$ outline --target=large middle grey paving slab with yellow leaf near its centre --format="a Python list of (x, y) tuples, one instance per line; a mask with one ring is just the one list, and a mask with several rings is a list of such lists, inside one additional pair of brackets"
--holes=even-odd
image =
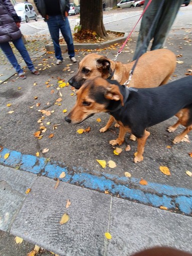
[[(111, 196), (39, 177), (11, 233), (65, 256), (104, 255)], [(71, 205), (66, 209), (67, 199)], [(64, 213), (67, 223), (59, 224)]]

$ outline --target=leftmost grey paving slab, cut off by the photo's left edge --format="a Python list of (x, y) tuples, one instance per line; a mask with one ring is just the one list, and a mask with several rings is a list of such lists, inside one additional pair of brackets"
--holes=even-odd
[(0, 229), (8, 231), (18, 214), (25, 192), (36, 180), (33, 173), (0, 165)]

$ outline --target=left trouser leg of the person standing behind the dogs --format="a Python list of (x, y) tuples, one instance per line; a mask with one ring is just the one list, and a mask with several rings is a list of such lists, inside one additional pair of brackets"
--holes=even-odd
[[(145, 0), (144, 8), (148, 4), (148, 2), (149, 2), (149, 0)], [(155, 16), (159, 9), (160, 3), (161, 3), (161, 1), (153, 0), (150, 3), (149, 7), (147, 8), (146, 12), (144, 13), (144, 15), (142, 17), (140, 30), (139, 30), (139, 36), (137, 39), (137, 45), (136, 45), (135, 53), (133, 56), (133, 60), (136, 60), (138, 58), (139, 53), (140, 53), (140, 55), (142, 55), (143, 53), (145, 53), (147, 51), (150, 40), (153, 38), (154, 32), (158, 25), (158, 20), (159, 20), (160, 14), (156, 18), (156, 22), (155, 22), (153, 28), (151, 29), (151, 32), (149, 35), (148, 35), (148, 32), (150, 30), (153, 20), (155, 19)], [(146, 39), (147, 35), (148, 35), (148, 38), (145, 41), (145, 44), (143, 45), (143, 42)], [(140, 51), (141, 47), (142, 47), (142, 51)]]

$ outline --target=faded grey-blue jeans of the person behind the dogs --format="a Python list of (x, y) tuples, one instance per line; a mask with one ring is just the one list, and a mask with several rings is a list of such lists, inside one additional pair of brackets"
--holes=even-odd
[[(149, 0), (145, 0), (144, 7), (146, 7)], [(156, 16), (156, 13), (159, 9), (159, 6), (161, 4), (161, 1), (159, 0), (153, 0), (146, 12), (144, 13), (142, 20), (141, 20), (141, 26), (139, 30), (139, 36), (137, 39), (137, 45), (136, 50), (134, 53), (133, 60), (138, 58), (139, 53), (143, 54), (147, 51), (147, 48), (149, 46), (150, 40), (153, 39), (151, 51), (163, 48), (164, 42), (166, 40), (166, 37), (169, 33), (169, 30), (176, 18), (176, 15), (178, 13), (178, 10), (182, 4), (182, 0), (165, 0), (164, 4), (162, 6), (162, 9), (160, 10), (160, 13), (157, 17), (157, 20), (151, 30), (151, 33), (149, 37), (147, 38), (147, 41), (145, 45), (143, 45), (144, 39), (146, 38), (148, 31), (150, 29), (150, 26)], [(142, 50), (140, 50), (142, 49)]]

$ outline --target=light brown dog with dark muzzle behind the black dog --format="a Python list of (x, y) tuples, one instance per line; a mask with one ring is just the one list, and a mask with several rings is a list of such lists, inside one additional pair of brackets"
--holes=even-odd
[[(114, 79), (120, 84), (125, 83), (129, 78), (129, 72), (135, 61), (122, 64), (108, 59), (105, 56), (91, 53), (84, 57), (79, 63), (76, 75), (70, 80), (69, 84), (79, 89), (85, 80), (97, 76), (105, 79)], [(176, 67), (176, 57), (174, 53), (167, 49), (159, 49), (144, 53), (138, 60), (134, 74), (128, 86), (136, 88), (157, 87), (166, 84), (170, 75)], [(114, 118), (110, 116), (107, 124), (100, 129), (104, 133), (113, 123)], [(134, 137), (132, 137), (133, 140)]]

